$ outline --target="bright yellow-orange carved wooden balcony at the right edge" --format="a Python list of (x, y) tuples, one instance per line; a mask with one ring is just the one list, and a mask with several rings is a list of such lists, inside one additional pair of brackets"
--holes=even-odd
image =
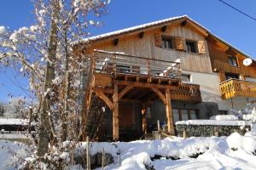
[(256, 82), (229, 79), (219, 84), (222, 99), (235, 96), (256, 97)]

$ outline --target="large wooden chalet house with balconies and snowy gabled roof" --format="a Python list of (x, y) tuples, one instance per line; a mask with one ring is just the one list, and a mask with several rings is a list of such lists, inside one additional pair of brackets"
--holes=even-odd
[[(160, 124), (206, 119), (241, 109), (256, 97), (256, 62), (188, 16), (84, 39), (76, 46), (90, 61), (83, 124), (93, 100), (108, 105), (100, 122), (113, 140), (150, 133)], [(99, 127), (96, 127), (99, 130)]]

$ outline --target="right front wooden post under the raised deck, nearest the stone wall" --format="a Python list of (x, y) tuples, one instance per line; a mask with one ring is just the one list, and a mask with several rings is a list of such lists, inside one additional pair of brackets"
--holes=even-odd
[(171, 104), (170, 89), (166, 89), (166, 118), (167, 118), (168, 133), (172, 133), (173, 120), (172, 120), (172, 104)]

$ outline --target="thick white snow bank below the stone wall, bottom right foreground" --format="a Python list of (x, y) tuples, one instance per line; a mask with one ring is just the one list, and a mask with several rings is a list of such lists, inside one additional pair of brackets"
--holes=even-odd
[(250, 134), (120, 142), (116, 150), (119, 159), (105, 169), (256, 169), (256, 138)]

